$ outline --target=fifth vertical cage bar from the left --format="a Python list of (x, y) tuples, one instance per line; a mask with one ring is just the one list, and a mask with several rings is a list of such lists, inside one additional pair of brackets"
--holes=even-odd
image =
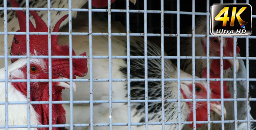
[(89, 0), (89, 60), (90, 60), (90, 125), (93, 130), (93, 77), (92, 77), (92, 0)]

